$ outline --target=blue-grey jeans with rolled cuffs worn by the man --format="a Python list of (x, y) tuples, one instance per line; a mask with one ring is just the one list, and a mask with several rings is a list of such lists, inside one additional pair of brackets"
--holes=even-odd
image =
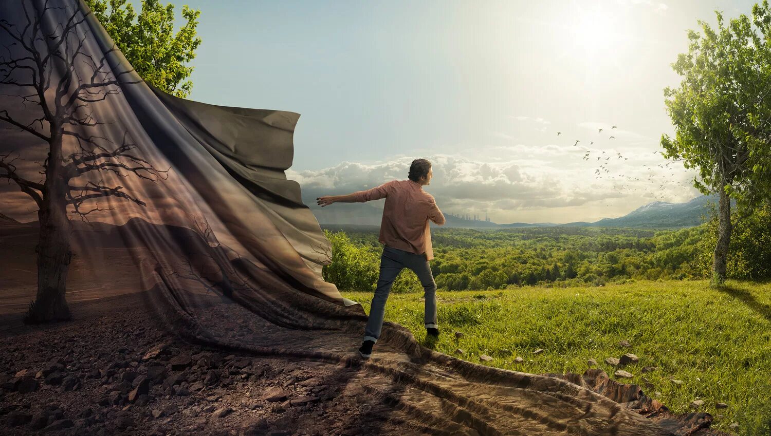
[(383, 326), (383, 316), (385, 315), (385, 300), (388, 300), (393, 280), (396, 280), (396, 276), (399, 275), (403, 268), (409, 268), (416, 273), (420, 284), (423, 285), (424, 297), (426, 297), (426, 310), (423, 320), (425, 321), (426, 328), (437, 328), (436, 283), (433, 280), (433, 274), (429, 267), (429, 261), (426, 260), (426, 255), (385, 246), (380, 257), (380, 277), (378, 279), (378, 286), (375, 289), (375, 297), (372, 298), (372, 306), (369, 308), (369, 319), (364, 330), (364, 340), (378, 341), (380, 330)]

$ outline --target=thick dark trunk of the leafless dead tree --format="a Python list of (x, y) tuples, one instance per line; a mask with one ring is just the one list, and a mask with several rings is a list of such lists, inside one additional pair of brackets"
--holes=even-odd
[(62, 138), (52, 139), (52, 153), (46, 172), (45, 196), (38, 210), (40, 237), (38, 253), (38, 293), (24, 319), (26, 324), (69, 320), (66, 279), (72, 251), (69, 244), (70, 223), (66, 213), (66, 182), (62, 179)]

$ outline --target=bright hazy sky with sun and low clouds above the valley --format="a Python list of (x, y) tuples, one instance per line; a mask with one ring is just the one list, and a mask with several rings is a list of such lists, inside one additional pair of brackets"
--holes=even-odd
[(755, 2), (186, 3), (203, 40), (189, 98), (300, 113), (287, 176), (309, 206), (425, 158), (444, 212), (568, 223), (701, 195), (655, 153), (674, 134), (663, 89), (697, 20)]

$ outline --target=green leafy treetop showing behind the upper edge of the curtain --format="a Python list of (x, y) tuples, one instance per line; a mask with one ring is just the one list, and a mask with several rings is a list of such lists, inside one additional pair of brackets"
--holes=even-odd
[(126, 59), (146, 82), (177, 97), (190, 94), (193, 82), (185, 81), (200, 45), (196, 26), (200, 11), (182, 7), (185, 24), (174, 34), (174, 6), (142, 0), (136, 15), (127, 0), (86, 0)]

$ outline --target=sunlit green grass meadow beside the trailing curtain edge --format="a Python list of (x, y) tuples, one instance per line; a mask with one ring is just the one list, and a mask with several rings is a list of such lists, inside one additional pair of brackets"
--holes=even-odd
[[(343, 295), (369, 313), (372, 293)], [(392, 293), (385, 310), (385, 320), (421, 341), (422, 297)], [(443, 334), (435, 349), (443, 353), (461, 348), (468, 361), (534, 374), (582, 374), (593, 358), (611, 377), (615, 368), (604, 359), (633, 353), (640, 361), (624, 367), (635, 375), (626, 382), (640, 384), (672, 411), (689, 412), (690, 402), (701, 399), (701, 411), (717, 417), (713, 428), (771, 434), (771, 282), (729, 280), (722, 289), (707, 280), (523, 287), (439, 292), (437, 300)], [(455, 331), (464, 336), (456, 341)], [(620, 347), (621, 340), (632, 347)], [(546, 351), (533, 354), (537, 348)], [(480, 354), (493, 361), (480, 361)], [(524, 362), (514, 362), (517, 356)], [(658, 371), (641, 374), (645, 366)], [(716, 402), (729, 407), (719, 410)], [(734, 422), (739, 428), (729, 428)]]

